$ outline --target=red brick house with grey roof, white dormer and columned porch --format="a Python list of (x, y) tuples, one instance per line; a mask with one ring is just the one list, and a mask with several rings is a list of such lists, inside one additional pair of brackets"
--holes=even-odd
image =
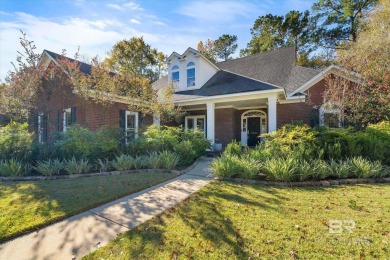
[[(58, 56), (49, 51), (44, 54), (51, 61)], [(294, 47), (216, 64), (188, 48), (183, 54), (172, 53), (166, 63), (168, 75), (153, 87), (159, 91), (173, 83), (174, 103), (186, 112), (176, 124), (204, 131), (209, 140), (224, 147), (232, 140), (254, 146), (260, 134), (298, 120), (309, 125), (339, 125), (339, 111), (326, 109), (323, 102), (325, 77), (339, 69), (298, 66)], [(80, 69), (91, 71), (90, 65), (81, 62)], [(66, 131), (72, 123), (90, 129), (114, 125), (133, 133), (141, 126), (159, 123), (151, 115), (127, 111), (120, 101), (103, 106), (81, 100), (71, 87), (57, 91), (62, 92), (54, 91), (43, 102), (49, 107), (47, 114), (38, 114), (40, 140), (46, 140), (50, 132)]]

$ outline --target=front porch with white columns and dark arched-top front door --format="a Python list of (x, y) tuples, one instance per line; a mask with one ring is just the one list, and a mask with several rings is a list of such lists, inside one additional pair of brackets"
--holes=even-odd
[(243, 146), (255, 146), (259, 135), (277, 128), (277, 96), (250, 100), (205, 102), (182, 106), (186, 111), (186, 129), (205, 131), (207, 139), (222, 143), (223, 149), (233, 140)]

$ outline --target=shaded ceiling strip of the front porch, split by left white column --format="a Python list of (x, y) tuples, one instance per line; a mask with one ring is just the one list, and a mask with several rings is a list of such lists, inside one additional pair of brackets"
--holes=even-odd
[[(240, 100), (240, 101), (228, 101), (215, 103), (215, 108), (235, 108), (245, 109), (251, 107), (267, 107), (267, 98), (252, 99), (252, 100)], [(183, 110), (206, 110), (206, 104), (198, 104), (192, 106), (182, 106)]]

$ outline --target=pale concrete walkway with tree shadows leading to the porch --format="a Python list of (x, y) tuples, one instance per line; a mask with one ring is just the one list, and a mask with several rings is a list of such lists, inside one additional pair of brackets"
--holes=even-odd
[(80, 259), (171, 208), (212, 180), (205, 158), (182, 176), (0, 245), (0, 259)]

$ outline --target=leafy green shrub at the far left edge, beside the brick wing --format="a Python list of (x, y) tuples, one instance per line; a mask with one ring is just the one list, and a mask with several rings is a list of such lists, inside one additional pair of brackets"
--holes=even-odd
[(0, 160), (30, 160), (34, 135), (27, 123), (11, 122), (0, 127)]

